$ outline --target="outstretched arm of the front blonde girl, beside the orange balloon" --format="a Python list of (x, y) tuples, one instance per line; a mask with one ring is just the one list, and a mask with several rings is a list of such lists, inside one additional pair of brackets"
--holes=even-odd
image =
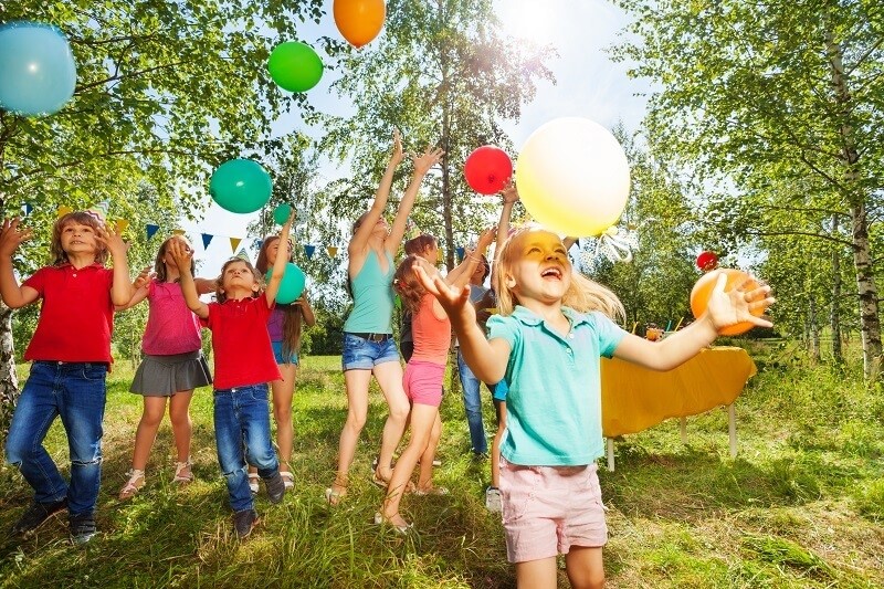
[(652, 370), (672, 370), (715, 341), (718, 330), (724, 327), (743, 322), (771, 327), (774, 324), (770, 320), (751, 314), (751, 309), (767, 309), (775, 303), (770, 296), (770, 286), (764, 285), (748, 291), (753, 282), (751, 278), (747, 280), (725, 293), (727, 275), (723, 272), (709, 297), (706, 313), (697, 320), (660, 343), (630, 334), (617, 346), (614, 356)]

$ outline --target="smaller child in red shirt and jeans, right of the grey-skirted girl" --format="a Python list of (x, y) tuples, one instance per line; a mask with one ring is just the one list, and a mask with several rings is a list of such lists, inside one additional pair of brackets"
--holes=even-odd
[[(283, 225), (281, 243), (287, 246), (292, 218)], [(261, 275), (242, 257), (228, 260), (218, 277), (217, 303), (202, 303), (190, 272), (193, 252), (181, 242), (169, 245), (181, 272), (181, 290), (190, 309), (212, 330), (214, 351), (214, 432), (218, 463), (227, 478), (233, 526), (240, 539), (259, 523), (249, 488), (246, 461), (257, 467), (271, 503), (280, 503), (285, 483), (270, 440), (267, 382), (280, 379), (267, 333), (280, 282), (288, 257), (277, 255), (266, 288)]]

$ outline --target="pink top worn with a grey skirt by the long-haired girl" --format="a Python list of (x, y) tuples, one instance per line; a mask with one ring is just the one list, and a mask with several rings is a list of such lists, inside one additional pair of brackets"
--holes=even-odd
[(199, 319), (188, 308), (178, 283), (151, 281), (147, 302), (150, 311), (141, 351), (150, 356), (171, 356), (202, 347)]

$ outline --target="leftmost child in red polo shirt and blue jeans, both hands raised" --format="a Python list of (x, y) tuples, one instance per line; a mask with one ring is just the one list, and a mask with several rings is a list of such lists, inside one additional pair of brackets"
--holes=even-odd
[[(114, 306), (125, 305), (129, 282), (126, 244), (92, 212), (70, 212), (55, 221), (52, 264), (19, 285), (12, 255), (31, 236), (19, 220), (0, 232), (0, 295), (11, 308), (41, 298), (40, 318), (24, 359), (31, 374), (19, 397), (7, 435), (7, 461), (34, 490), (34, 501), (13, 526), (27, 536), (50, 516), (67, 509), (71, 537), (83, 544), (96, 534), (95, 504), (102, 480), (102, 420), (105, 379), (113, 361)], [(104, 267), (107, 253), (113, 270)], [(43, 448), (61, 417), (67, 432), (71, 483)]]

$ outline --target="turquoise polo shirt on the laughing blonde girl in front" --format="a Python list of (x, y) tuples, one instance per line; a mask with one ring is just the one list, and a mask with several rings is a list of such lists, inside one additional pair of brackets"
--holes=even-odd
[(566, 336), (523, 306), (488, 319), (490, 339), (512, 348), (501, 454), (513, 464), (576, 466), (604, 455), (600, 362), (627, 332), (598, 312), (562, 313), (571, 324)]

